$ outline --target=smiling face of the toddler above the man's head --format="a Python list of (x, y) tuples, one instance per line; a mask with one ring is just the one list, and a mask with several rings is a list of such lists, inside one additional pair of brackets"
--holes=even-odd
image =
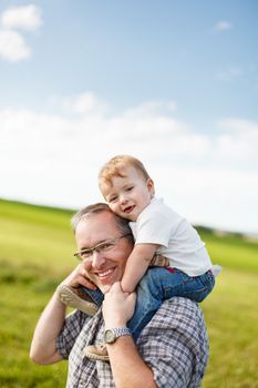
[(113, 176), (111, 185), (100, 181), (101, 192), (110, 208), (117, 215), (136, 221), (140, 213), (149, 204), (154, 194), (154, 183), (147, 181), (134, 167), (124, 167), (122, 176)]

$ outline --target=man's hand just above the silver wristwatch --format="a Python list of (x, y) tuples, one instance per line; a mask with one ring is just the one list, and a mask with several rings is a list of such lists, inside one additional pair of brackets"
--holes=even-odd
[(112, 285), (103, 302), (103, 317), (106, 328), (123, 327), (134, 314), (136, 294), (123, 293), (121, 283)]

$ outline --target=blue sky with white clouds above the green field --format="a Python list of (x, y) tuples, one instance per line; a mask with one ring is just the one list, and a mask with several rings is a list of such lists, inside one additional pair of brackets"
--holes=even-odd
[(138, 157), (195, 225), (258, 233), (256, 0), (0, 1), (0, 197), (78, 210)]

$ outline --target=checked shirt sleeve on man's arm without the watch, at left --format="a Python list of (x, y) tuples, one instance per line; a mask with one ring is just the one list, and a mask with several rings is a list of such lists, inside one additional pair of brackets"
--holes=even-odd
[(82, 330), (82, 327), (87, 316), (80, 310), (74, 310), (66, 316), (62, 330), (56, 338), (56, 350), (64, 358), (68, 359), (70, 351)]

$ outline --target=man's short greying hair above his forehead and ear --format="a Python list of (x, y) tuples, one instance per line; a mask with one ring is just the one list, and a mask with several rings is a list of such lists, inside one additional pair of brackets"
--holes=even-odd
[(115, 213), (113, 213), (110, 207), (107, 206), (107, 204), (105, 203), (95, 203), (93, 205), (89, 205), (86, 207), (81, 208), (78, 213), (75, 213), (71, 219), (71, 225), (73, 228), (73, 232), (76, 232), (76, 227), (80, 223), (81, 219), (83, 218), (87, 218), (91, 215), (94, 214), (100, 214), (100, 213), (111, 213), (116, 222), (117, 228), (121, 232), (122, 235), (127, 235), (128, 239), (133, 241), (133, 235), (132, 235), (132, 231), (131, 227), (128, 225), (128, 221), (124, 219), (122, 217), (120, 217), (118, 215), (116, 215)]

